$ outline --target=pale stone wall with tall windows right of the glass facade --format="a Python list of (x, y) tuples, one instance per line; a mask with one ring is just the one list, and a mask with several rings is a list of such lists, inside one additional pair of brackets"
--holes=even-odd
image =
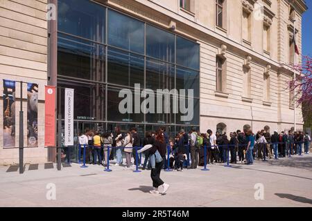
[[(298, 2), (301, 0), (298, 0)], [(271, 130), (289, 130), (293, 126), (294, 111), (290, 104), (288, 81), (293, 73), (289, 65), (289, 3), (285, 0), (258, 0), (272, 15), (270, 26), (270, 54), (263, 51), (263, 20), (258, 19), (258, 11), (252, 12), (252, 41), (246, 46), (242, 39), (241, 0), (227, 0), (226, 30), (215, 25), (215, 1), (196, 0), (191, 4), (191, 12), (180, 9), (179, 1), (136, 0), (132, 8), (125, 7), (125, 1), (112, 0), (108, 5), (124, 10), (168, 29), (171, 21), (176, 23), (175, 32), (196, 39), (200, 43), (200, 129), (216, 129), (223, 122), (228, 131), (242, 129), (244, 124), (252, 125), (254, 131), (263, 126)], [(253, 2), (253, 1), (250, 1)], [(271, 3), (270, 3), (271, 2)], [(192, 7), (193, 6), (193, 7)], [(296, 6), (297, 7), (297, 6)], [(299, 6), (298, 6), (299, 7)], [(134, 10), (135, 8), (135, 10)], [(235, 10), (234, 10), (235, 8)], [(231, 10), (232, 9), (232, 10)], [(301, 14), (296, 8), (297, 44), (301, 52)], [(146, 17), (154, 15), (157, 20)], [(227, 84), (228, 96), (216, 95), (216, 55), (221, 45), (227, 46)], [(252, 57), (251, 96), (252, 103), (244, 102), (243, 64), (247, 55)], [(297, 56), (299, 59), (300, 56)], [(263, 73), (270, 65), (270, 100), (263, 102)], [(286, 68), (283, 68), (286, 66)], [(297, 129), (302, 129), (302, 113), (297, 108)]]

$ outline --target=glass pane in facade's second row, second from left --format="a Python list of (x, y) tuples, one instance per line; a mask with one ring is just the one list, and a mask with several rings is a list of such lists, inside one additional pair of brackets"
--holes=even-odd
[(144, 57), (108, 48), (107, 81), (111, 84), (144, 86)]

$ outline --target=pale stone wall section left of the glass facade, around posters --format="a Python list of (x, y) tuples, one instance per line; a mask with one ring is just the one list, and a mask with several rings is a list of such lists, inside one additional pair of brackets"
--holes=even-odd
[[(39, 85), (38, 147), (24, 148), (24, 162), (46, 162), (44, 148), (44, 85), (47, 78), (47, 0), (0, 0), (0, 91), (3, 79)], [(16, 84), (16, 98), (20, 97), (20, 83)], [(27, 146), (27, 84), (23, 84), (24, 145)], [(16, 102), (16, 131), (19, 131), (19, 108)], [(0, 127), (3, 128), (3, 97), (0, 101)], [(0, 130), (0, 164), (18, 163), (17, 148), (3, 148)]]

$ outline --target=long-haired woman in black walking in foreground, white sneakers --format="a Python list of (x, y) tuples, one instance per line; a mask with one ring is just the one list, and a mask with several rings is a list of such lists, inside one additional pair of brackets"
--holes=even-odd
[[(160, 130), (158, 130), (155, 135), (155, 142), (153, 147), (150, 148), (150, 154), (155, 154), (156, 151), (159, 152), (163, 159), (166, 157), (166, 142), (164, 140), (164, 135)], [(162, 171), (163, 164), (164, 160), (162, 160), (162, 162), (156, 163), (155, 169), (150, 171), (150, 177), (153, 181), (153, 191), (150, 191), (152, 194), (159, 194), (159, 186), (161, 186), (163, 189), (162, 194), (165, 194), (166, 191), (168, 191), (169, 185), (164, 183), (164, 181), (162, 181), (160, 178), (160, 172)]]

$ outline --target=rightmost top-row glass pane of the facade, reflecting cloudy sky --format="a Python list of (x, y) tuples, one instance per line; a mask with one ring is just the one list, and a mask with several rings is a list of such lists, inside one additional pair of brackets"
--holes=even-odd
[(177, 64), (199, 70), (199, 44), (177, 37)]

